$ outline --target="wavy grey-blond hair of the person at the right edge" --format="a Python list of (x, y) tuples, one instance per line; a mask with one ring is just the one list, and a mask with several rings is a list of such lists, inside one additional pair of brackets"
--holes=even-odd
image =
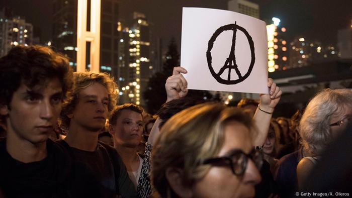
[(352, 91), (349, 89), (323, 89), (309, 102), (304, 111), (299, 134), (301, 145), (316, 156), (333, 140), (329, 123), (331, 116), (352, 108)]

